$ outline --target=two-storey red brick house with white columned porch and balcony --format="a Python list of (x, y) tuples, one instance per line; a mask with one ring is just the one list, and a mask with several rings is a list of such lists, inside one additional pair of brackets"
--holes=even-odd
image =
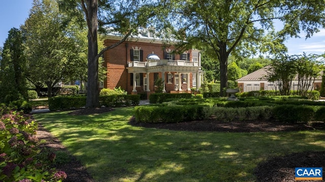
[[(120, 41), (120, 35), (107, 35), (105, 46)], [(107, 68), (107, 80), (104, 88), (121, 87), (128, 94), (154, 93), (154, 82), (163, 80), (164, 92), (190, 92), (190, 88), (199, 91), (203, 71), (201, 53), (190, 49), (174, 54), (173, 47), (164, 47), (163, 41), (149, 31), (129, 38), (119, 46), (104, 53), (104, 65)]]

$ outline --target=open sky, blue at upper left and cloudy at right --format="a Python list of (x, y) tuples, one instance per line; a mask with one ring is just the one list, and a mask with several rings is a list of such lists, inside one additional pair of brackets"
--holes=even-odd
[[(19, 28), (28, 18), (32, 0), (5, 0), (0, 6), (0, 46), (8, 38), (8, 31), (15, 27)], [(285, 45), (288, 54), (324, 54), (325, 53), (325, 29), (315, 33), (312, 38), (305, 40), (305, 34), (300, 34), (301, 39), (289, 38)]]

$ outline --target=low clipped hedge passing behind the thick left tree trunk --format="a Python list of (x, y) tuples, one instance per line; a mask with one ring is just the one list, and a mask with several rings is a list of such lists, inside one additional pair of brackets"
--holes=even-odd
[[(139, 105), (140, 95), (107, 95), (100, 96), (100, 105), (112, 106), (130, 106)], [(80, 108), (86, 105), (86, 96), (56, 96), (48, 100), (49, 110), (67, 110), (70, 108)]]

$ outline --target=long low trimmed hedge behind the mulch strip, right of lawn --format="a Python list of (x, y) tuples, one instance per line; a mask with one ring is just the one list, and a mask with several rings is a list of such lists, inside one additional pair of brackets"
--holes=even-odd
[[(282, 98), (283, 99), (283, 98)], [(285, 100), (288, 99), (288, 100)], [(270, 120), (308, 123), (325, 120), (325, 103), (285, 98), (278, 100), (225, 101), (221, 99), (177, 99), (136, 107), (138, 122), (185, 122), (213, 117), (220, 121)], [(272, 101), (277, 103), (272, 103)]]

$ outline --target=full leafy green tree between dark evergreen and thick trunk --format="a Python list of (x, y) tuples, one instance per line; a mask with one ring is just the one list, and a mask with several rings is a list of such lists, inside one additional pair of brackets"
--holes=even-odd
[(37, 90), (46, 84), (51, 97), (55, 84), (85, 72), (85, 38), (79, 36), (84, 29), (59, 12), (56, 0), (34, 0), (30, 12), (21, 27), (26, 37), (26, 77)]

